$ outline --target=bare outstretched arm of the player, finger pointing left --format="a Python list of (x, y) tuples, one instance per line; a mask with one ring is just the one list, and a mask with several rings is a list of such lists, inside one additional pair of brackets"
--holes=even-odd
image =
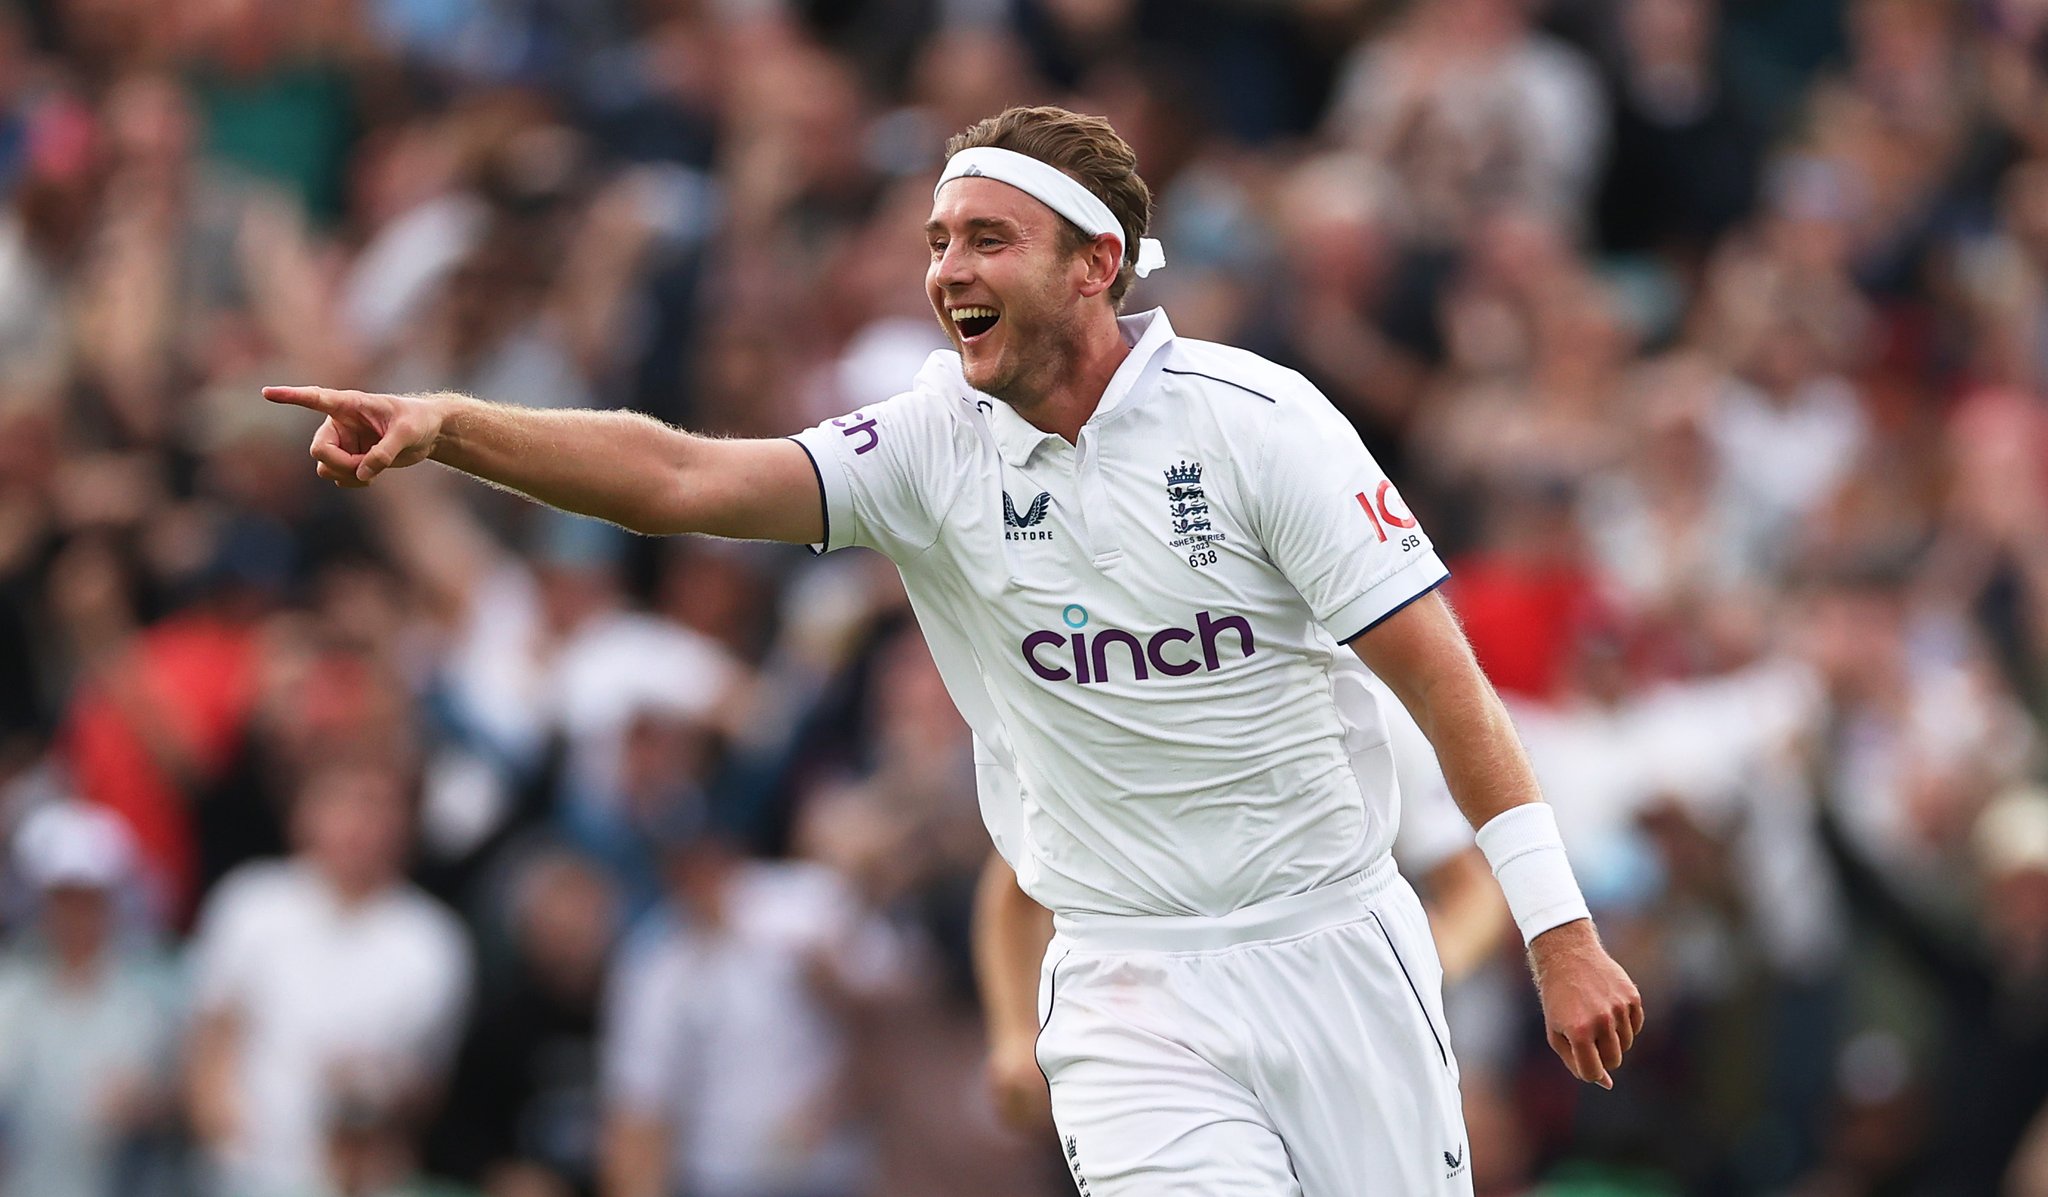
[(647, 535), (788, 543), (825, 535), (817, 473), (795, 441), (719, 441), (635, 412), (512, 408), (455, 394), (262, 394), (326, 416), (311, 455), (315, 473), (336, 486), (369, 486), (385, 469), (440, 461)]

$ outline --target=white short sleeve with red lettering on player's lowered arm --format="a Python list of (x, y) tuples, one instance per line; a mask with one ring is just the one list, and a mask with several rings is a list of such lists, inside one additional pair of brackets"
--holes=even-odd
[(1450, 570), (1350, 420), (1305, 391), (1272, 414), (1251, 508), (1274, 566), (1350, 644)]

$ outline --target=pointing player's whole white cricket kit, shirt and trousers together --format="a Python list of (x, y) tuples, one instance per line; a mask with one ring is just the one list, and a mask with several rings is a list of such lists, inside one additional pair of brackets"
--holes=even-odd
[(1079, 439), (913, 389), (797, 437), (903, 574), (981, 806), (1055, 914), (1038, 1060), (1090, 1197), (1468, 1193), (1442, 969), (1339, 648), (1446, 578), (1298, 373), (1118, 320)]

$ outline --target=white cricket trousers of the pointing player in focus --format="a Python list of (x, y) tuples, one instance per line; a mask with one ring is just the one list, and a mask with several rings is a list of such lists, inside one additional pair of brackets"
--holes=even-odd
[(1223, 918), (1057, 918), (1038, 1064), (1075, 1187), (1470, 1195), (1442, 990), (1391, 859)]

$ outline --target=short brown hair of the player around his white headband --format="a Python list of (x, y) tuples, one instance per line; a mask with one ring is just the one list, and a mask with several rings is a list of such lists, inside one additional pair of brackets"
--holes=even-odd
[[(1110, 283), (1110, 303), (1122, 307), (1124, 293), (1137, 279), (1139, 238), (1151, 228), (1151, 189), (1139, 178), (1139, 156), (1102, 117), (1083, 117), (1051, 105), (1036, 109), (1004, 109), (969, 125), (946, 141), (946, 158), (961, 150), (993, 146), (1057, 166), (1110, 205), (1110, 215), (1124, 230), (1124, 264)], [(1061, 219), (1071, 250), (1090, 244), (1073, 221)]]

